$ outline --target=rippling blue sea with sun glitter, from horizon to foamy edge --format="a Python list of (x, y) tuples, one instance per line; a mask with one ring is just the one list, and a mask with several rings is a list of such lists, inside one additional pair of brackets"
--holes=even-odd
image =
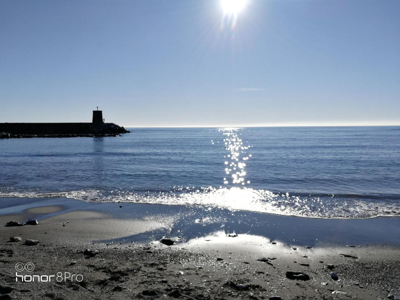
[(400, 127), (130, 130), (0, 140), (0, 196), (400, 216)]

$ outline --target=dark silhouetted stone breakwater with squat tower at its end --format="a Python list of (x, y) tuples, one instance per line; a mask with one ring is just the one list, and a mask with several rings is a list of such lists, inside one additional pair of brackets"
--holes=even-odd
[(0, 138), (72, 138), (120, 136), (124, 127), (105, 123), (102, 111), (94, 110), (91, 123), (0, 123)]

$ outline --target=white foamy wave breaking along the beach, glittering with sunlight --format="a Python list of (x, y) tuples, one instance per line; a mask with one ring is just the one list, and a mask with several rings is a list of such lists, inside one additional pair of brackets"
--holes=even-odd
[[(246, 187), (183, 188), (168, 192), (136, 192), (133, 190), (71, 190), (44, 192), (38, 190), (0, 190), (0, 197), (48, 198), (65, 197), (93, 202), (134, 202), (165, 205), (204, 205), (230, 210), (300, 216), (306, 218), (375, 218), (400, 216), (400, 201), (362, 195), (332, 194), (320, 196), (276, 194), (268, 190)], [(392, 197), (389, 197), (392, 198)]]

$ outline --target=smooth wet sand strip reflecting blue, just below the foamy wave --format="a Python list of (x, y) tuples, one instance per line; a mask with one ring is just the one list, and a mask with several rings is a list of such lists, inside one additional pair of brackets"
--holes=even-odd
[[(31, 210), (47, 206), (59, 206), (60, 209), (57, 212)], [(127, 224), (137, 220), (156, 224), (145, 232), (130, 232), (126, 236), (110, 235), (108, 239), (115, 242), (124, 239), (149, 242), (160, 240), (164, 236), (172, 238), (181, 236), (181, 241), (187, 241), (220, 232), (224, 234), (235, 232), (262, 236), (270, 241), (298, 247), (365, 244), (400, 246), (400, 236), (397, 234), (400, 231), (399, 217), (321, 219), (243, 210), (232, 211), (201, 205), (90, 202), (63, 197), (0, 199), (0, 222), (4, 224), (6, 221), (11, 221), (10, 215), (19, 215), (16, 216), (16, 221), (20, 223), (29, 219), (40, 221), (48, 218), (66, 222), (65, 219), (70, 218), (67, 214), (76, 211), (105, 214), (107, 219), (120, 220)], [(79, 220), (76, 219), (75, 222), (79, 223)]]

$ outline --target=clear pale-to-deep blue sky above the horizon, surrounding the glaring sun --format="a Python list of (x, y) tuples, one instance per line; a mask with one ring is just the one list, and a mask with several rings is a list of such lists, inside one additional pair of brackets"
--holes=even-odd
[(0, 122), (400, 124), (400, 1), (0, 3)]

